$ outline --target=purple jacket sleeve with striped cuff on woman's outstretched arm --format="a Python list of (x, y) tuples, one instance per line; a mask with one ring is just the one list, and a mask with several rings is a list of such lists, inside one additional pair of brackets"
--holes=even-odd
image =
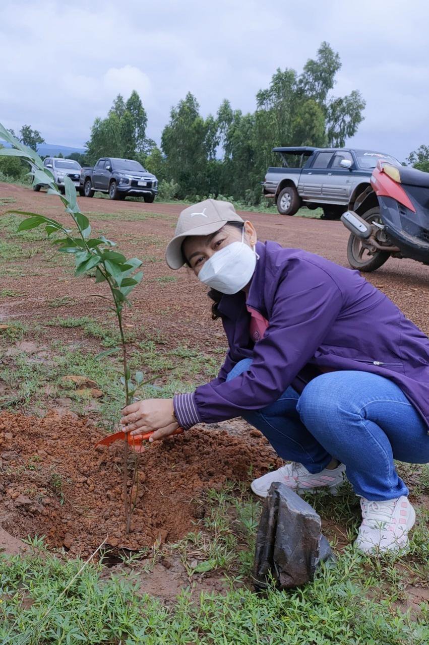
[(279, 280), (270, 325), (255, 344), (250, 370), (175, 397), (179, 423), (189, 428), (223, 421), (276, 401), (314, 356), (342, 306), (343, 295), (328, 273), (310, 261), (296, 263)]

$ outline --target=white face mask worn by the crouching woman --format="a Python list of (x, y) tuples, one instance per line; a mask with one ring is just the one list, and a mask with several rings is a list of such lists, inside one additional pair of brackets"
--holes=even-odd
[(254, 274), (259, 255), (244, 243), (244, 228), (241, 242), (228, 244), (206, 260), (198, 273), (202, 283), (221, 293), (238, 293)]

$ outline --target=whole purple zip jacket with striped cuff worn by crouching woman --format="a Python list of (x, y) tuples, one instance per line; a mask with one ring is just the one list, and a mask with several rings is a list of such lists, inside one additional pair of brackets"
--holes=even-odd
[[(292, 385), (301, 393), (324, 371), (361, 370), (394, 381), (429, 427), (429, 339), (360, 273), (306, 251), (257, 243), (248, 299), (224, 295), (219, 312), (229, 351), (216, 379), (174, 397), (185, 428), (259, 410)], [(246, 304), (269, 321), (250, 339)], [(248, 372), (226, 382), (235, 363)]]

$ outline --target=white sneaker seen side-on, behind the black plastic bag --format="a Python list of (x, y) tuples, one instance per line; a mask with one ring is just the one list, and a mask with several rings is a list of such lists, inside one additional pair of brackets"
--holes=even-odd
[(281, 482), (286, 484), (289, 488), (293, 488), (297, 493), (302, 493), (304, 490), (314, 492), (316, 488), (328, 486), (332, 493), (337, 491), (337, 488), (344, 481), (344, 471), (346, 467), (344, 464), (339, 464), (337, 468), (328, 470), (324, 468), (320, 473), (309, 473), (308, 470), (296, 461), (292, 464), (286, 464), (278, 470), (273, 470), (271, 473), (266, 473), (258, 479), (254, 479), (250, 488), (254, 491), (255, 495), (259, 497), (266, 497), (272, 482)]

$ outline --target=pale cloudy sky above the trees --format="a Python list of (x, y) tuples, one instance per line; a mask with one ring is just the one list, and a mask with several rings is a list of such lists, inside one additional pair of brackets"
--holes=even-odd
[(0, 121), (83, 146), (135, 88), (159, 142), (186, 92), (204, 115), (225, 97), (253, 111), (277, 67), (301, 70), (326, 40), (343, 62), (333, 94), (366, 99), (348, 143), (403, 160), (429, 144), (428, 24), (427, 0), (1, 0)]

